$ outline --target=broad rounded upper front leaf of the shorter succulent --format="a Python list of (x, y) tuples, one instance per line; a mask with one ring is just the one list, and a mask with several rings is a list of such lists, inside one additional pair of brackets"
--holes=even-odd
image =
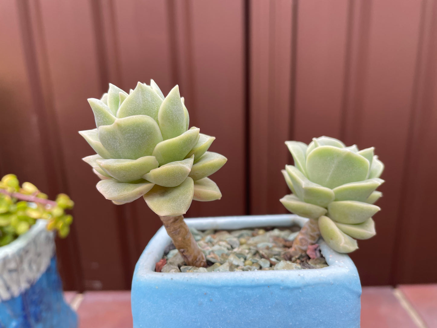
[(309, 180), (331, 189), (366, 179), (368, 169), (364, 157), (333, 146), (316, 147), (306, 159)]

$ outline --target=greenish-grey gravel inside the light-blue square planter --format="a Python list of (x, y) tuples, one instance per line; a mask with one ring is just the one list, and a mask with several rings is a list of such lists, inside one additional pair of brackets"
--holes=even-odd
[(185, 264), (173, 243), (156, 263), (156, 272), (229, 272), (256, 270), (320, 269), (328, 266), (319, 245), (309, 247), (294, 262), (282, 254), (292, 246), (300, 227), (243, 230), (206, 230), (190, 228), (208, 266), (197, 268)]

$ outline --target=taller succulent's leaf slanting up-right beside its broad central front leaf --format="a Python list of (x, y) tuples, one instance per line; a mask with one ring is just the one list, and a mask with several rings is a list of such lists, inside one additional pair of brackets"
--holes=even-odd
[(183, 160), (198, 142), (199, 131), (198, 128), (191, 128), (180, 136), (158, 143), (152, 155), (160, 165)]

